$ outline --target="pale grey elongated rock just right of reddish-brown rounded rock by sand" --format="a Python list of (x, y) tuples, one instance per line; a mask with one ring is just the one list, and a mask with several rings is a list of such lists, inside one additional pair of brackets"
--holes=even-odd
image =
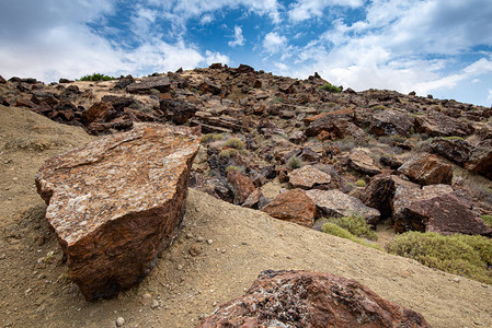
[(312, 199), (317, 207), (317, 216), (352, 216), (361, 215), (367, 223), (379, 221), (378, 210), (366, 207), (359, 199), (348, 196), (340, 190), (307, 190), (306, 195)]

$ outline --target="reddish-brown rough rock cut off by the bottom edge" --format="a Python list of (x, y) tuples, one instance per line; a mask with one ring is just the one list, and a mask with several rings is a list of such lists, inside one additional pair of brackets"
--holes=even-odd
[(263, 271), (245, 295), (220, 305), (197, 328), (430, 327), (419, 313), (331, 273)]

